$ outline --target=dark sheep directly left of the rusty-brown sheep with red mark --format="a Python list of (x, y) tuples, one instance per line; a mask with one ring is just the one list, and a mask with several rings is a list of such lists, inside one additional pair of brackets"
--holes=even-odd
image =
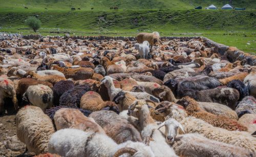
[(73, 89), (63, 93), (59, 98), (59, 106), (71, 106), (80, 108), (80, 99), (82, 95), (91, 91), (89, 85), (75, 86)]

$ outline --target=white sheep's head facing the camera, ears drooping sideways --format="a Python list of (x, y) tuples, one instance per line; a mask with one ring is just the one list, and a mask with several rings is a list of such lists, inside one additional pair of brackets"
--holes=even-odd
[(169, 118), (162, 122), (158, 129), (165, 126), (166, 142), (172, 144), (177, 136), (177, 130), (180, 128), (185, 133), (183, 126), (174, 118)]

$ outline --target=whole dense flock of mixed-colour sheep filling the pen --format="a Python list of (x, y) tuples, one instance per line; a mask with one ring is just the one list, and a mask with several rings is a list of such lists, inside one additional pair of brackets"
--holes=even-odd
[(256, 66), (229, 62), (236, 48), (221, 56), (200, 38), (137, 41), (0, 42), (0, 112), (17, 111), (28, 151), (255, 156)]

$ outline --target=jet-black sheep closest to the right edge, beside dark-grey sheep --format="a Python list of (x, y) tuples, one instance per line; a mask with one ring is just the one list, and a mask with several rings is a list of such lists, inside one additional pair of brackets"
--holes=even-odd
[(249, 90), (245, 84), (240, 80), (233, 80), (228, 83), (227, 87), (237, 89), (240, 93), (239, 101), (241, 101), (245, 96), (249, 95)]

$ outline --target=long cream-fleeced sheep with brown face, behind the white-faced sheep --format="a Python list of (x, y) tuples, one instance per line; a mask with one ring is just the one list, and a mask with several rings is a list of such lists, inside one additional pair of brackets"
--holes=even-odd
[(183, 107), (174, 103), (168, 107), (158, 108), (156, 111), (155, 114), (160, 114), (166, 120), (174, 118), (181, 123), (186, 134), (198, 133), (211, 140), (239, 146), (252, 153), (256, 152), (256, 140), (251, 138), (251, 135), (247, 132), (229, 131), (220, 127), (214, 127), (201, 119), (192, 116), (188, 117)]

